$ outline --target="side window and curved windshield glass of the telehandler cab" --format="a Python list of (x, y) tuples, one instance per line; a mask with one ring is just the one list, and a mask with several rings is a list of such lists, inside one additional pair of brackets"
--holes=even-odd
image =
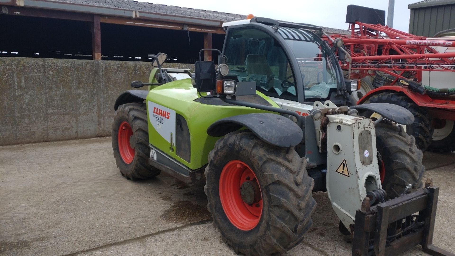
[(336, 88), (337, 77), (322, 40), (305, 30), (282, 28), (278, 33), (293, 50), (300, 74), (294, 74), (283, 47), (268, 33), (254, 29), (231, 29), (224, 54), (229, 76), (254, 81), (265, 95), (297, 100), (296, 75), (301, 75), (305, 98), (325, 99)]

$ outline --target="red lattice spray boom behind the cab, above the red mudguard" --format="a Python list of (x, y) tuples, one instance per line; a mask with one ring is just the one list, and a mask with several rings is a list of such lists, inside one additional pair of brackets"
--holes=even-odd
[[(455, 39), (427, 40), (380, 24), (355, 22), (349, 24), (351, 35), (331, 35), (342, 38), (352, 57), (350, 78), (360, 79), (378, 70), (393, 75), (394, 85), (404, 72), (415, 73), (417, 82), (422, 80), (422, 71), (455, 71), (455, 52), (439, 53), (430, 46), (455, 47)], [(397, 39), (398, 38), (398, 39)], [(332, 42), (324, 37), (329, 44)], [(399, 63), (396, 63), (399, 60)], [(340, 61), (343, 70), (349, 63)]]

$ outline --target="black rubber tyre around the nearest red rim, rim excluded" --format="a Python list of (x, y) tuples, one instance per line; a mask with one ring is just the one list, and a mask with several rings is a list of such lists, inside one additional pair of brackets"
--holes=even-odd
[[(211, 175), (212, 163), (217, 161), (217, 157), (219, 157), (216, 152), (227, 148), (230, 150), (245, 149), (252, 159), (259, 162), (260, 169), (264, 171), (264, 186), (270, 191), (271, 201), (267, 232), (255, 245), (245, 247), (223, 236), (221, 229), (224, 227), (221, 226), (224, 224), (217, 224), (213, 215), (215, 203), (212, 202), (210, 192), (213, 187), (207, 182), (204, 186), (204, 191), (208, 197), (207, 209), (214, 216), (214, 226), (220, 230), (223, 241), (232, 246), (236, 252), (255, 256), (283, 253), (297, 245), (313, 223), (311, 214), (316, 206), (316, 201), (314, 201), (311, 193), (314, 181), (306, 172), (305, 160), (298, 156), (294, 148), (274, 147), (258, 139), (251, 132), (236, 131), (227, 134), (215, 143), (214, 149), (209, 153), (209, 163), (204, 172), (206, 177)], [(267, 156), (263, 154), (265, 151)], [(278, 173), (275, 170), (285, 171)], [(208, 180), (209, 178), (207, 178)]]

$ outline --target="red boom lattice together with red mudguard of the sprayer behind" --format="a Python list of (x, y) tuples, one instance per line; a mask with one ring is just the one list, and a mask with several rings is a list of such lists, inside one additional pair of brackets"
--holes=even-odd
[[(369, 91), (358, 104), (382, 92), (402, 92), (417, 105), (429, 108), (435, 118), (455, 120), (455, 97), (420, 94), (397, 83), (404, 72), (411, 72), (414, 80), (422, 81), (422, 71), (455, 72), (455, 52), (439, 53), (430, 46), (455, 48), (454, 39), (427, 40), (380, 24), (356, 21), (349, 24), (351, 35), (331, 35), (343, 39), (349, 49), (351, 63), (340, 61), (341, 68), (350, 71), (350, 79), (361, 79), (381, 71), (395, 77), (387, 85)], [(329, 38), (324, 37), (333, 46)], [(349, 65), (350, 64), (350, 65)]]

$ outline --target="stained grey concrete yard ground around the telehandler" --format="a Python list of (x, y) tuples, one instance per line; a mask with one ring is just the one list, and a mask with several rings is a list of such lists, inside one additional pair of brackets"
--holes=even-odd
[[(455, 252), (455, 153), (425, 153), (440, 186), (435, 245)], [(350, 255), (327, 195), (286, 256)], [(111, 138), (0, 147), (0, 255), (235, 255), (221, 241), (202, 187), (160, 175), (128, 181)], [(404, 255), (426, 255), (416, 247)]]

